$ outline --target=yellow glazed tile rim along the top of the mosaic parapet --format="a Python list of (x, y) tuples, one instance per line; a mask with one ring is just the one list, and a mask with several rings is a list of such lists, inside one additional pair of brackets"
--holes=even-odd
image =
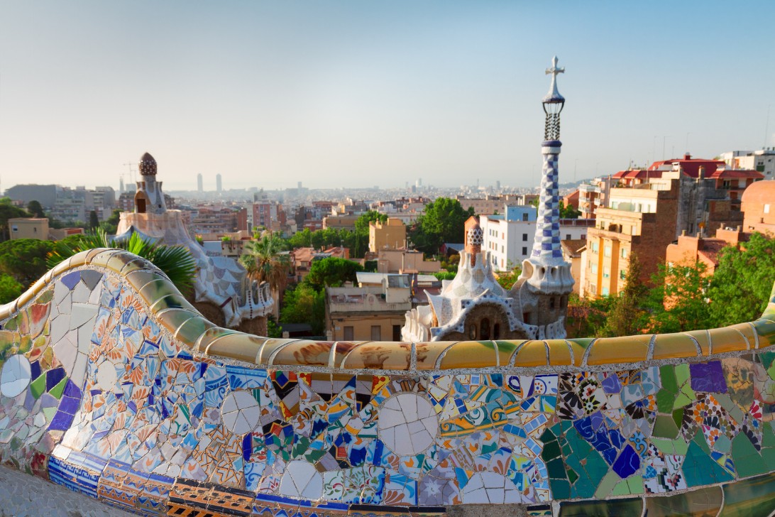
[[(57, 264), (18, 299), (0, 306), (7, 318), (33, 301), (53, 279), (82, 266), (102, 267), (120, 274), (150, 305), (150, 312), (177, 339), (202, 353), (276, 366), (363, 367), (428, 371), (460, 367), (584, 367), (643, 360), (708, 357), (763, 348), (775, 343), (775, 286), (762, 318), (722, 329), (664, 335), (552, 341), (491, 341), (432, 343), (349, 343), (298, 339), (267, 339), (231, 329), (214, 329), (180, 295), (167, 277), (147, 260), (115, 249), (77, 253)], [(158, 296), (158, 298), (154, 298)], [(177, 326), (177, 328), (175, 328)], [(215, 345), (215, 343), (218, 343)], [(230, 352), (230, 343), (239, 351)], [(294, 343), (294, 344), (292, 344)], [(635, 346), (633, 346), (635, 345)], [(289, 346), (284, 350), (284, 346)], [(698, 349), (701, 353), (698, 354)], [(238, 357), (234, 357), (238, 356)]]

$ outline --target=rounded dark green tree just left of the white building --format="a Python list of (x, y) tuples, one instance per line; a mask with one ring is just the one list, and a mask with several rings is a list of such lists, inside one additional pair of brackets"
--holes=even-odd
[(463, 242), (465, 224), (471, 215), (474, 215), (474, 207), (463, 210), (456, 199), (436, 198), (425, 205), (409, 238), (418, 250), (429, 255), (438, 253), (443, 243)]

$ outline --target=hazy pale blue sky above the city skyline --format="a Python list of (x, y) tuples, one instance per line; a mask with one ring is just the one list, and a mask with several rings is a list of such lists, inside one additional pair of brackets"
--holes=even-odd
[(0, 181), (117, 187), (148, 151), (168, 189), (537, 185), (554, 54), (560, 181), (687, 140), (773, 146), (773, 19), (772, 0), (0, 0)]

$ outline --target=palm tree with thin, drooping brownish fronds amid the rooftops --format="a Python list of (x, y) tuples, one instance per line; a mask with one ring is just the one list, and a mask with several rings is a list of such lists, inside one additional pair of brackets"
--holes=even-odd
[(269, 288), (277, 292), (285, 287), (288, 271), (291, 270), (291, 257), (283, 253), (286, 247), (281, 236), (268, 233), (260, 240), (245, 243), (239, 264), (245, 267), (251, 280), (259, 284), (269, 282)]

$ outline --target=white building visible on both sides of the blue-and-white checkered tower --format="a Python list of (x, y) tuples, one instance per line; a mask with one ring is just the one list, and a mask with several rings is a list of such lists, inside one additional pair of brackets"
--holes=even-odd
[[(482, 250), (489, 253), (494, 271), (511, 271), (530, 256), (536, 238), (536, 207), (505, 206), (503, 215), (482, 215)], [(586, 239), (594, 219), (560, 219), (560, 239)]]

